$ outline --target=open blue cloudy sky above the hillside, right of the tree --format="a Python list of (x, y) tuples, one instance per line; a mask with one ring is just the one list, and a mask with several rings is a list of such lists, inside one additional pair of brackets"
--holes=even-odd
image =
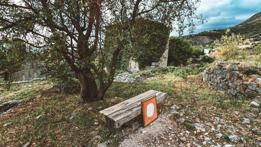
[[(240, 24), (261, 12), (261, 0), (201, 0), (197, 7), (196, 15), (202, 14), (203, 17), (207, 17), (208, 22), (194, 22), (194, 34)], [(178, 32), (173, 31), (170, 35), (178, 36)], [(184, 35), (189, 35), (188, 29), (184, 31)]]

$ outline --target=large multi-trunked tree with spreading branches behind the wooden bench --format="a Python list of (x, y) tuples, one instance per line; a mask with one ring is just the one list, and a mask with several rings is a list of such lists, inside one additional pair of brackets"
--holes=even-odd
[[(113, 82), (119, 52), (135, 44), (136, 36), (141, 33), (133, 27), (136, 18), (168, 26), (177, 22), (176, 30), (180, 34), (186, 27), (193, 32), (193, 19), (202, 23), (205, 20), (194, 13), (198, 2), (200, 0), (3, 0), (0, 3), (1, 41), (9, 38), (43, 52), (56, 51), (78, 75), (83, 100), (102, 100)], [(109, 30), (110, 36), (106, 37), (114, 48), (103, 52), (98, 47), (103, 47), (106, 27), (110, 25), (116, 28)], [(98, 64), (91, 60), (95, 51), (99, 52)], [(48, 58), (53, 62), (51, 54)], [(99, 87), (94, 74), (99, 76)]]

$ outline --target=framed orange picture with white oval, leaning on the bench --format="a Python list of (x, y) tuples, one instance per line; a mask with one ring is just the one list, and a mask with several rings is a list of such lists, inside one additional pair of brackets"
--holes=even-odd
[(141, 101), (141, 109), (143, 125), (145, 127), (158, 118), (156, 95), (149, 97), (147, 100)]

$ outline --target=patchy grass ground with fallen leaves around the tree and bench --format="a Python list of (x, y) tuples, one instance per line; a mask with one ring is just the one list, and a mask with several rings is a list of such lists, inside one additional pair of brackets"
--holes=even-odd
[[(194, 123), (210, 122), (213, 118), (212, 114), (226, 120), (234, 118), (234, 122), (239, 123), (236, 121), (239, 116), (228, 113), (229, 111), (237, 110), (242, 113), (255, 111), (248, 107), (248, 103), (244, 103), (244, 99), (220, 95), (218, 92), (208, 89), (200, 75), (180, 78), (167, 74), (158, 80), (140, 83), (113, 83), (106, 92), (103, 103), (85, 103), (78, 93), (54, 93), (50, 90), (50, 81), (47, 81), (42, 88), (34, 83), (13, 86), (9, 92), (1, 93), (1, 97), (9, 96), (10, 93), (16, 95), (7, 97), (6, 101), (25, 100), (22, 105), (15, 107), (13, 112), (3, 115), (1, 118), (1, 145), (18, 147), (26, 142), (35, 142), (38, 146), (97, 146), (98, 143), (118, 146), (123, 140), (121, 129), (131, 128), (133, 122), (139, 122), (142, 127), (141, 117), (132, 119), (119, 129), (114, 129), (99, 119), (99, 111), (151, 89), (167, 94), (167, 101), (158, 105), (158, 110), (164, 111), (159, 114), (167, 115), (170, 107), (177, 104), (180, 107), (178, 111), (182, 112), (184, 116), (188, 116), (181, 126), (193, 132)], [(32, 85), (32, 90), (29, 91), (23, 85)], [(30, 100), (28, 100), (29, 98)], [(101, 106), (102, 108), (99, 108)], [(222, 108), (222, 110), (214, 111), (213, 107)], [(76, 112), (77, 115), (70, 119), (73, 112)], [(35, 117), (39, 115), (42, 117), (36, 120)], [(26, 118), (27, 116), (30, 117)], [(170, 119), (175, 121), (178, 118), (179, 115), (173, 115)], [(2, 126), (8, 122), (13, 124), (8, 127)], [(230, 125), (232, 123), (228, 122)], [(260, 125), (259, 122), (255, 123), (256, 126)], [(233, 125), (236, 127), (236, 124)], [(206, 130), (211, 129), (208, 127), (206, 126)], [(248, 137), (251, 139), (251, 136)], [(223, 140), (221, 139), (221, 141)]]

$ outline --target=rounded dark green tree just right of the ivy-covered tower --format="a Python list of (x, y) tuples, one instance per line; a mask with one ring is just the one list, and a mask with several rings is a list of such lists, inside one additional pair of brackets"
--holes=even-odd
[(188, 58), (192, 57), (192, 47), (181, 37), (170, 37), (168, 64), (171, 66), (186, 65)]

